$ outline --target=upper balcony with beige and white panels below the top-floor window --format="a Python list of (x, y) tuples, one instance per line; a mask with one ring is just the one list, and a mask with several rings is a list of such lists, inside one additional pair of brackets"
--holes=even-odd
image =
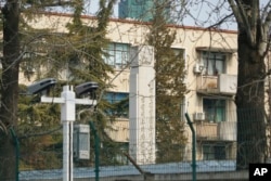
[(196, 90), (199, 93), (229, 94), (236, 93), (237, 76), (220, 74), (218, 76), (201, 75), (196, 78)]

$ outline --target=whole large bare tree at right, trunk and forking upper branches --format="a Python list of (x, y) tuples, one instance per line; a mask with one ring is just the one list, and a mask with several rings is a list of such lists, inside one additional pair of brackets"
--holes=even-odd
[(270, 2), (260, 13), (259, 0), (228, 0), (238, 30), (237, 169), (264, 163), (267, 132), (264, 120), (264, 57), (269, 50)]

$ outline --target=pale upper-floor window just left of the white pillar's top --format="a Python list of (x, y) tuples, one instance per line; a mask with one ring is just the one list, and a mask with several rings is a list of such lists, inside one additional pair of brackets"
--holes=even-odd
[(130, 46), (126, 43), (109, 43), (105, 52), (108, 54), (105, 62), (115, 68), (122, 68), (129, 60)]

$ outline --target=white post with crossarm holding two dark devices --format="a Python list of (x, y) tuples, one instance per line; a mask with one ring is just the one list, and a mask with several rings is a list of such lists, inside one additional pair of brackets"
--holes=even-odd
[(73, 86), (64, 86), (61, 98), (41, 96), (41, 102), (61, 104), (61, 122), (63, 125), (63, 181), (73, 181), (73, 124), (76, 119), (75, 105), (95, 105), (96, 101), (76, 99)]

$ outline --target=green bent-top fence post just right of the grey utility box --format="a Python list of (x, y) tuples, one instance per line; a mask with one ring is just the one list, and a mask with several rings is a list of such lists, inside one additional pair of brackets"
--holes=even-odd
[(100, 138), (96, 133), (96, 129), (95, 126), (93, 124), (93, 121), (89, 121), (91, 131), (93, 131), (94, 133), (94, 153), (95, 153), (95, 181), (99, 181), (99, 167), (100, 167), (100, 163), (99, 163), (99, 157), (100, 157)]

